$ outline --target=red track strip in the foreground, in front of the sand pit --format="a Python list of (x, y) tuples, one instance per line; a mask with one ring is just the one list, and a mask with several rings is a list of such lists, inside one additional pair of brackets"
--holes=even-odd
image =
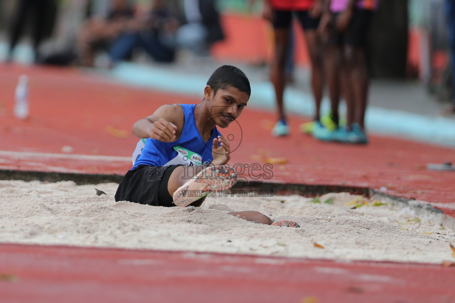
[(432, 265), (14, 244), (0, 245), (0, 260), (3, 303), (455, 299), (455, 268)]

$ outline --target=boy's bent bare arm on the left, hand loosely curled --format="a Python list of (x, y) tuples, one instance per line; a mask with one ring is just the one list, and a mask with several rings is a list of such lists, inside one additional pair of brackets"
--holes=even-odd
[(139, 138), (171, 142), (181, 134), (183, 120), (184, 115), (180, 105), (162, 105), (152, 115), (137, 121), (132, 131)]

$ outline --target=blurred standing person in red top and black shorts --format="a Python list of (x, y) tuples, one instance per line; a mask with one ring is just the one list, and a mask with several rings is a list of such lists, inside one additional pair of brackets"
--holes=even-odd
[(275, 31), (275, 55), (270, 67), (270, 80), (275, 88), (278, 106), (278, 122), (272, 129), (274, 136), (289, 134), (284, 114), (283, 93), (285, 88), (285, 64), (289, 47), (289, 32), (293, 13), (305, 31), (308, 53), (312, 65), (311, 84), (316, 104), (314, 120), (319, 122), (319, 108), (324, 85), (322, 45), (317, 33), (321, 15), (321, 0), (263, 0), (263, 17), (273, 24)]

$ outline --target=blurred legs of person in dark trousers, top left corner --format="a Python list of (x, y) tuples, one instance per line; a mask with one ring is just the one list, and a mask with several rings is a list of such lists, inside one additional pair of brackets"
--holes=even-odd
[[(39, 58), (39, 47), (45, 36), (50, 35), (54, 27), (56, 16), (55, 0), (20, 0), (17, 3), (13, 23), (10, 29), (10, 48), (7, 62), (13, 58), (15, 46), (24, 32), (24, 27), (29, 20), (33, 20), (32, 46), (35, 61)], [(32, 17), (30, 19), (30, 16)]]

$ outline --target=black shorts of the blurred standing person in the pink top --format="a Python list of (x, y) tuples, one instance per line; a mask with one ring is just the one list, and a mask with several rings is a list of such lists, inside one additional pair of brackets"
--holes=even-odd
[[(334, 13), (335, 25), (340, 13)], [(330, 42), (334, 45), (351, 45), (354, 47), (365, 47), (367, 44), (367, 34), (371, 24), (373, 11), (355, 9), (352, 15), (351, 23), (345, 33), (340, 32), (333, 26)]]

